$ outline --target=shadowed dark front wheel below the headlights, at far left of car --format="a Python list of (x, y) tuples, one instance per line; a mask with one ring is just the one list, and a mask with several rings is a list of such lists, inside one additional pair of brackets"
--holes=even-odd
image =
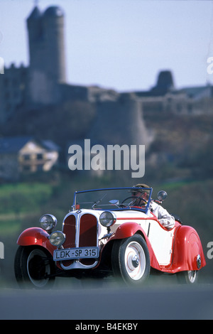
[(46, 289), (53, 286), (55, 273), (53, 258), (41, 247), (19, 246), (14, 261), (16, 281), (22, 288)]

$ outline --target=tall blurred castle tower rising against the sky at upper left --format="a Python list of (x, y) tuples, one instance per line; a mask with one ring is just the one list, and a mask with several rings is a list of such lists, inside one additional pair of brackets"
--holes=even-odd
[(60, 102), (58, 84), (65, 82), (64, 14), (58, 6), (41, 13), (35, 6), (27, 19), (29, 44), (29, 102)]

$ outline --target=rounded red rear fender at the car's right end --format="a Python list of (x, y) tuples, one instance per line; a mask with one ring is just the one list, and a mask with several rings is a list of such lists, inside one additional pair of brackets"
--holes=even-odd
[[(201, 263), (197, 265), (197, 256)], [(177, 230), (173, 248), (173, 263), (170, 270), (173, 272), (199, 270), (206, 265), (200, 237), (193, 227), (182, 225)]]

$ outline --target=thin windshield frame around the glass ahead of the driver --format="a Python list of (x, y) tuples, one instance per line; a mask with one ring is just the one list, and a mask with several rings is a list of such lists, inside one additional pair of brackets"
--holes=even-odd
[[(73, 203), (72, 203), (72, 211), (75, 211), (75, 210), (82, 210), (84, 208), (77, 208), (77, 203), (76, 203), (76, 200), (77, 200), (77, 194), (81, 194), (81, 193), (92, 193), (92, 192), (97, 192), (97, 191), (104, 191), (104, 190), (132, 190), (132, 191), (135, 191), (135, 190), (138, 190), (138, 191), (141, 191), (141, 189), (144, 189), (144, 190), (150, 190), (150, 193), (149, 193), (149, 198), (148, 198), (148, 201), (146, 203), (146, 206), (144, 205), (144, 207), (136, 207), (136, 206), (126, 206), (124, 208), (116, 208), (116, 205), (112, 205), (112, 208), (111, 209), (106, 209), (106, 211), (123, 211), (123, 210), (137, 210), (137, 211), (141, 211), (141, 212), (148, 212), (148, 209), (150, 207), (150, 203), (151, 203), (151, 195), (153, 193), (153, 188), (136, 188), (136, 187), (119, 187), (119, 188), (98, 188), (98, 189), (89, 189), (89, 190), (80, 190), (80, 191), (75, 191), (74, 193), (74, 198), (73, 198)], [(102, 198), (100, 198), (101, 200)], [(94, 208), (94, 203), (95, 201), (93, 202), (93, 205), (91, 203), (91, 208), (90, 210), (96, 210), (96, 208)], [(101, 210), (104, 210), (104, 209), (101, 209)], [(104, 210), (105, 211), (105, 210)]]

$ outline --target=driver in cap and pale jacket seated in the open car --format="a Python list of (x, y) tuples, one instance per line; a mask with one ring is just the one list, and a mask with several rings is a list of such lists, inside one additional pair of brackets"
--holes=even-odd
[[(140, 184), (134, 185), (133, 188), (150, 188), (150, 187), (146, 184), (140, 183)], [(143, 200), (145, 201), (145, 203), (148, 201), (150, 190), (148, 189), (143, 189), (141, 191), (136, 190), (136, 191), (133, 191), (133, 195), (140, 197), (138, 198), (137, 201), (140, 201), (141, 204), (139, 204), (138, 202), (137, 205), (142, 206), (144, 205)], [(161, 205), (158, 205), (157, 203), (155, 203), (153, 200), (151, 200), (150, 209), (151, 209), (151, 212), (153, 212), (153, 215), (155, 215), (155, 217), (158, 218), (158, 220), (160, 221), (160, 224), (163, 225), (163, 227), (167, 228), (168, 230), (173, 229), (173, 227), (175, 226), (175, 218), (172, 215), (170, 215), (167, 210), (165, 210)]]

